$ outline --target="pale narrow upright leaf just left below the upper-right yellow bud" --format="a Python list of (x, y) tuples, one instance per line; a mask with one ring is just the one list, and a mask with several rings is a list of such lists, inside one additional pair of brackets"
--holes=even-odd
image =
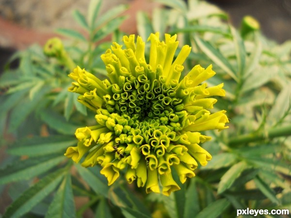
[(235, 28), (232, 26), (229, 26), (229, 28), (232, 34), (233, 43), (235, 47), (236, 59), (238, 63), (238, 74), (240, 75), (240, 78), (242, 78), (245, 70), (245, 57), (246, 57), (244, 43), (238, 31), (236, 31)]

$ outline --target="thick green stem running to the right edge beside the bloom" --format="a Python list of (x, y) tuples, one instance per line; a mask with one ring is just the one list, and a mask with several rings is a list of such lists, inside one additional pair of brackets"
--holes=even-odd
[(236, 144), (254, 142), (254, 141), (259, 141), (259, 140), (268, 140), (268, 139), (273, 139), (276, 137), (290, 136), (290, 135), (291, 135), (291, 125), (287, 125), (287, 126), (281, 126), (281, 127), (270, 129), (269, 131), (266, 131), (264, 133), (259, 133), (259, 134), (252, 133), (252, 134), (230, 138), (228, 141), (228, 144), (236, 145)]

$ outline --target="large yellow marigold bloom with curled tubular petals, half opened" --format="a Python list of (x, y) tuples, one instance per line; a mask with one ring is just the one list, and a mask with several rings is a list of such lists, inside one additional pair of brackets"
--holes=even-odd
[[(99, 164), (100, 171), (112, 185), (121, 170), (128, 183), (146, 186), (146, 193), (162, 191), (170, 195), (180, 187), (173, 179), (177, 171), (184, 183), (195, 176), (198, 163), (205, 166), (211, 155), (199, 144), (210, 140), (199, 131), (227, 128), (226, 111), (213, 114), (216, 103), (211, 96), (224, 96), (223, 83), (207, 88), (206, 79), (215, 75), (211, 65), (196, 65), (184, 77), (183, 62), (191, 47), (178, 47), (177, 35), (151, 34), (149, 60), (141, 37), (124, 36), (123, 46), (113, 43), (101, 55), (108, 79), (101, 81), (79, 66), (69, 75), (74, 79), (70, 92), (96, 111), (97, 125), (79, 128), (77, 147), (69, 147), (65, 156), (82, 166)], [(202, 84), (201, 84), (202, 83)], [(160, 185), (162, 190), (160, 189)]]

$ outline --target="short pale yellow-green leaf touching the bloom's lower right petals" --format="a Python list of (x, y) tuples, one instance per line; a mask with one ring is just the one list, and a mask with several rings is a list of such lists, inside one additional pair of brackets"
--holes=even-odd
[(235, 163), (237, 156), (233, 153), (221, 153), (218, 155), (212, 156), (211, 161), (208, 164), (201, 168), (201, 170), (217, 170), (223, 167), (228, 167)]

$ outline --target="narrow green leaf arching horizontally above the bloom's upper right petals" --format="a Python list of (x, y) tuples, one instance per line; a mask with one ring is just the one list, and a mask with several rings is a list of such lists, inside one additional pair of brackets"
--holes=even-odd
[(221, 27), (213, 27), (213, 26), (206, 26), (206, 25), (194, 25), (194, 26), (188, 26), (185, 28), (178, 28), (174, 29), (173, 31), (170, 32), (170, 34), (175, 34), (178, 32), (188, 32), (188, 33), (193, 33), (193, 32), (213, 32), (213, 33), (218, 33), (225, 35), (227, 37), (230, 37), (230, 32), (229, 30), (223, 29)]

